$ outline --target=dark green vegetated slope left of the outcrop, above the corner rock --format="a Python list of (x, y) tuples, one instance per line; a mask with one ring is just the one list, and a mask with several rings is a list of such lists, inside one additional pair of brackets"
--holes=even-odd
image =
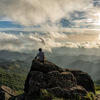
[(0, 68), (0, 85), (8, 86), (18, 93), (23, 92), (25, 79), (25, 73), (14, 73), (11, 70), (7, 71), (2, 67)]

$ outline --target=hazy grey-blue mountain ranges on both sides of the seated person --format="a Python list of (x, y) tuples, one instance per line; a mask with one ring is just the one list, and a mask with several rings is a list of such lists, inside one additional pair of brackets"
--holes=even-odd
[[(60, 52), (61, 50), (63, 52)], [(91, 54), (88, 55), (86, 54), (86, 51), (88, 51), (86, 49), (84, 52), (81, 52), (81, 50), (77, 51), (76, 49), (76, 53), (75, 49), (73, 50), (73, 53), (71, 50), (68, 48), (57, 48), (55, 50), (52, 50), (52, 52), (45, 51), (45, 56), (48, 61), (51, 61), (62, 68), (82, 70), (91, 75), (94, 81), (99, 80), (100, 56)], [(66, 53), (64, 53), (64, 51)], [(31, 67), (31, 62), (37, 53), (38, 51), (36, 50), (31, 51), (31, 53), (19, 53), (14, 51), (2, 50), (0, 51), (0, 66), (1, 68), (6, 68), (8, 71), (14, 71), (14, 69), (16, 68), (13, 67), (13, 70), (10, 70), (11, 66), (19, 66), (18, 68), (21, 68), (21, 72), (28, 73), (28, 70)]]

